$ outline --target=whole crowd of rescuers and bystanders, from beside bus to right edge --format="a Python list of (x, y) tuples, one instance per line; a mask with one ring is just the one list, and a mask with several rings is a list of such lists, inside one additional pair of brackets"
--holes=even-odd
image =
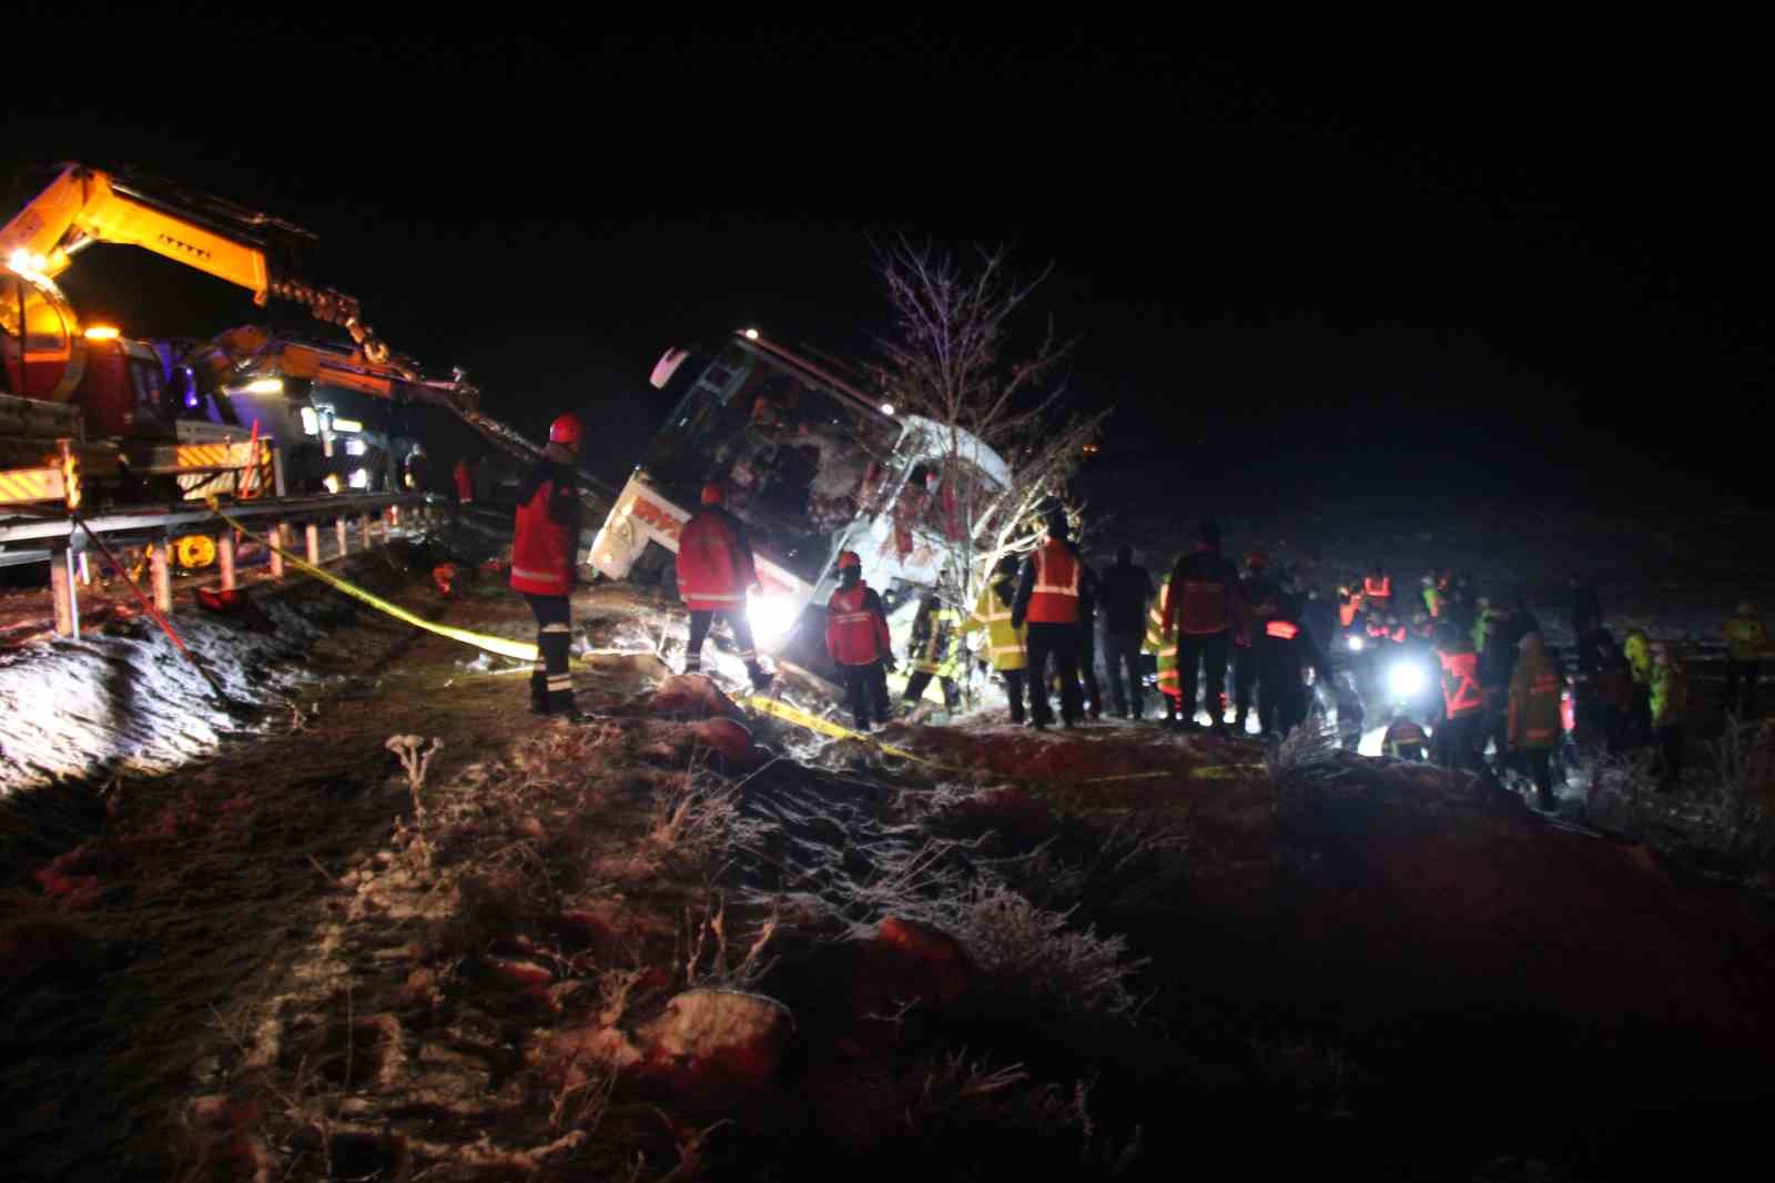
[[(511, 570), (513, 588), (538, 622), (532, 709), (566, 718), (580, 718), (566, 670), (580, 437), (577, 417), (557, 419), (545, 457), (520, 483)], [(746, 528), (722, 508), (717, 483), (701, 501), (676, 556), (678, 590), (690, 611), (685, 670), (701, 668), (710, 627), (724, 620), (753, 686), (769, 686), (772, 675), (760, 664), (746, 618), (747, 592), (758, 588)], [(1127, 545), (1097, 572), (1070, 538), (1065, 513), (1054, 510), (1033, 551), (1021, 561), (999, 560), (971, 613), (937, 597), (919, 602), (902, 705), (919, 702), (937, 682), (944, 703), (957, 709), (960, 684), (978, 663), (1003, 680), (1014, 723), (1051, 726), (1051, 695), (1058, 695), (1061, 726), (1100, 718), (1106, 682), (1113, 711), (1140, 719), (1150, 657), (1163, 700), (1157, 718), (1170, 726), (1246, 734), (1255, 716), (1262, 735), (1280, 739), (1317, 714), (1344, 746), (1356, 748), (1365, 728), (1384, 725), (1386, 755), (1491, 780), (1523, 776), (1542, 806), (1553, 805), (1562, 753), (1651, 748), (1660, 787), (1676, 789), (1688, 714), (1688, 679), (1676, 648), (1640, 629), (1617, 643), (1596, 590), (1578, 581), (1571, 632), (1567, 675), (1523, 599), (1493, 602), (1475, 595), (1468, 576), (1452, 572), (1427, 572), (1399, 592), (1379, 563), (1328, 597), (1315, 563), (1273, 568), (1262, 551), (1250, 551), (1235, 567), (1212, 522), (1157, 583)], [(1748, 719), (1768, 629), (1750, 604), (1740, 604), (1724, 639), (1725, 709)], [(825, 645), (857, 730), (889, 721), (886, 675), (898, 663), (886, 606), (863, 581), (852, 551), (838, 556)], [(1397, 677), (1400, 670), (1406, 677)]]

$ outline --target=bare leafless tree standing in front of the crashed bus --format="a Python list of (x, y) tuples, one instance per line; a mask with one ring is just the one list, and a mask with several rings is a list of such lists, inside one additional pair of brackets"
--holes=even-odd
[[(969, 611), (980, 577), (1005, 554), (1035, 547), (1045, 503), (1067, 501), (1067, 481), (1106, 412), (1069, 414), (1061, 371), (1074, 341), (1053, 322), (1026, 353), (1012, 355), (1012, 322), (1049, 270), (1019, 281), (1008, 249), (980, 249), (973, 266), (900, 240), (877, 266), (895, 313), (875, 378), (902, 412), (941, 433), (939, 503), (950, 558), (939, 595)], [(976, 442), (978, 441), (978, 442)], [(1010, 465), (1010, 485), (978, 457), (985, 444)], [(1077, 508), (1069, 506), (1077, 517)]]

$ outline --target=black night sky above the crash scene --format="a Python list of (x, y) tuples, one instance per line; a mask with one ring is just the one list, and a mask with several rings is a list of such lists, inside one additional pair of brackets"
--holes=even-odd
[[(1748, 46), (1298, 30), (1310, 52), (1193, 57), (529, 12), (21, 16), (64, 48), (7, 67), (7, 163), (135, 163), (318, 231), (312, 275), (385, 339), (529, 430), (593, 416), (609, 474), (664, 414), (666, 346), (854, 348), (882, 327), (870, 243), (909, 234), (1054, 265), (1037, 304), (1083, 336), (1079, 405), (1116, 407), (1104, 462), (1168, 471), (1184, 513), (1191, 481), (1770, 501)], [(142, 336), (252, 318), (126, 250), (67, 288)]]

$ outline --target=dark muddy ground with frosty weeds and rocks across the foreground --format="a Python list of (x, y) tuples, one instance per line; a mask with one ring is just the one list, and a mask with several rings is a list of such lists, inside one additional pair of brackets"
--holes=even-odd
[[(446, 604), (424, 567), (376, 579), (527, 631), (497, 576)], [(1106, 723), (884, 757), (671, 679), (659, 609), (577, 599), (602, 718), (572, 728), (506, 663), (332, 604), (248, 730), (9, 799), (41, 822), (0, 929), (12, 1174), (1557, 1179), (1755, 1149), (1764, 897), (1312, 750)], [(444, 741), (417, 790), (403, 734)]]

